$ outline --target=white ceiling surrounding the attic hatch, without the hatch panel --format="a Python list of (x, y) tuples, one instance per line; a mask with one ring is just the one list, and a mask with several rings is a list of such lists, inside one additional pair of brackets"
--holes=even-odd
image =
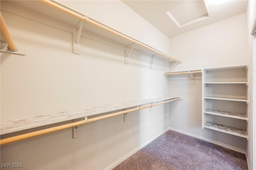
[[(176, 15), (176, 9), (180, 10), (181, 6), (188, 4), (187, 1), (188, 0), (122, 0), (122, 2), (168, 37), (174, 37), (238, 14), (242, 14), (246, 12), (248, 2), (247, 0), (225, 0), (223, 3), (217, 4), (216, 2), (219, 0), (200, 0), (204, 1), (208, 16), (201, 20), (198, 18), (198, 21), (195, 23), (192, 21), (190, 23), (189, 21), (186, 21), (188, 24), (183, 23), (183, 26), (179, 27), (175, 21), (171, 20), (166, 12), (174, 12), (174, 15)], [(195, 8), (194, 11), (195, 13), (198, 13), (198, 9)], [(186, 12), (188, 12), (188, 9), (184, 11), (180, 10), (181, 14), (185, 14)], [(177, 16), (176, 18), (179, 17), (180, 16)]]

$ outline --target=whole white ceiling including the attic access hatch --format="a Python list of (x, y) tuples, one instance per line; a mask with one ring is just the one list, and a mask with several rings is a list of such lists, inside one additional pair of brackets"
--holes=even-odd
[(242, 14), (246, 12), (248, 3), (247, 0), (224, 0), (222, 3), (217, 3), (220, 0), (122, 0), (122, 2), (168, 37)]

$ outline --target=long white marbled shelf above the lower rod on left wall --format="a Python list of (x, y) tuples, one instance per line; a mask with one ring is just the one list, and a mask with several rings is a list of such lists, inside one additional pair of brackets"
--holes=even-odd
[(178, 97), (166, 96), (166, 97), (150, 98), (150, 99), (145, 99), (140, 101), (132, 101), (132, 102), (126, 102), (121, 104), (93, 107), (93, 108), (84, 109), (84, 110), (66, 111), (66, 112), (54, 113), (49, 115), (40, 115), (36, 117), (31, 117), (28, 119), (10, 120), (10, 121), (1, 122), (0, 133), (1, 135), (3, 135), (7, 133), (31, 129), (34, 127), (50, 125), (53, 123), (59, 123), (59, 122), (78, 119), (81, 117), (87, 117), (91, 115), (98, 115), (101, 113), (107, 113), (111, 111), (118, 111), (121, 109), (127, 109), (130, 107), (136, 107), (136, 106), (141, 106), (141, 105), (155, 103), (155, 102), (162, 102), (162, 101), (171, 100), (175, 98), (178, 98)]

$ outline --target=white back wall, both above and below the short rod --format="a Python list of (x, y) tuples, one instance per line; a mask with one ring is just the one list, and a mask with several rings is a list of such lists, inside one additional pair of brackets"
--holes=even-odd
[[(172, 65), (171, 71), (246, 65), (246, 14), (170, 38), (170, 54), (183, 63)], [(170, 127), (185, 133), (214, 140), (234, 149), (246, 149), (246, 139), (202, 127), (202, 77), (196, 74), (195, 84), (187, 75), (169, 77), (170, 93), (182, 97), (172, 109)], [(223, 118), (225, 119), (225, 118)]]

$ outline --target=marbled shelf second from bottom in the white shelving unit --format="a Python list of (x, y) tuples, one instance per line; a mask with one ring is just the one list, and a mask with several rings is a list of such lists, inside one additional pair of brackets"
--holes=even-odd
[(211, 115), (219, 115), (224, 117), (232, 117), (235, 119), (248, 120), (247, 115), (242, 113), (233, 113), (233, 112), (213, 110), (213, 109), (206, 109), (204, 110), (204, 113), (211, 114)]

